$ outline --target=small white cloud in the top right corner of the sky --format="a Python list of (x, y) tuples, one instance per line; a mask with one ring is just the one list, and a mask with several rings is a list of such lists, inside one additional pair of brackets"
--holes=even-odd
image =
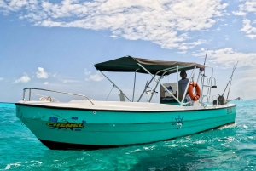
[(253, 26), (252, 24), (255, 24), (253, 20), (249, 20), (246, 18), (247, 14), (251, 14), (256, 16), (256, 1), (255, 0), (243, 0), (242, 3), (239, 5), (239, 11), (233, 11), (233, 14), (235, 15), (241, 15), (243, 16), (242, 24), (243, 27), (240, 31), (244, 31), (246, 33), (246, 36), (253, 39), (256, 38), (256, 26)]

